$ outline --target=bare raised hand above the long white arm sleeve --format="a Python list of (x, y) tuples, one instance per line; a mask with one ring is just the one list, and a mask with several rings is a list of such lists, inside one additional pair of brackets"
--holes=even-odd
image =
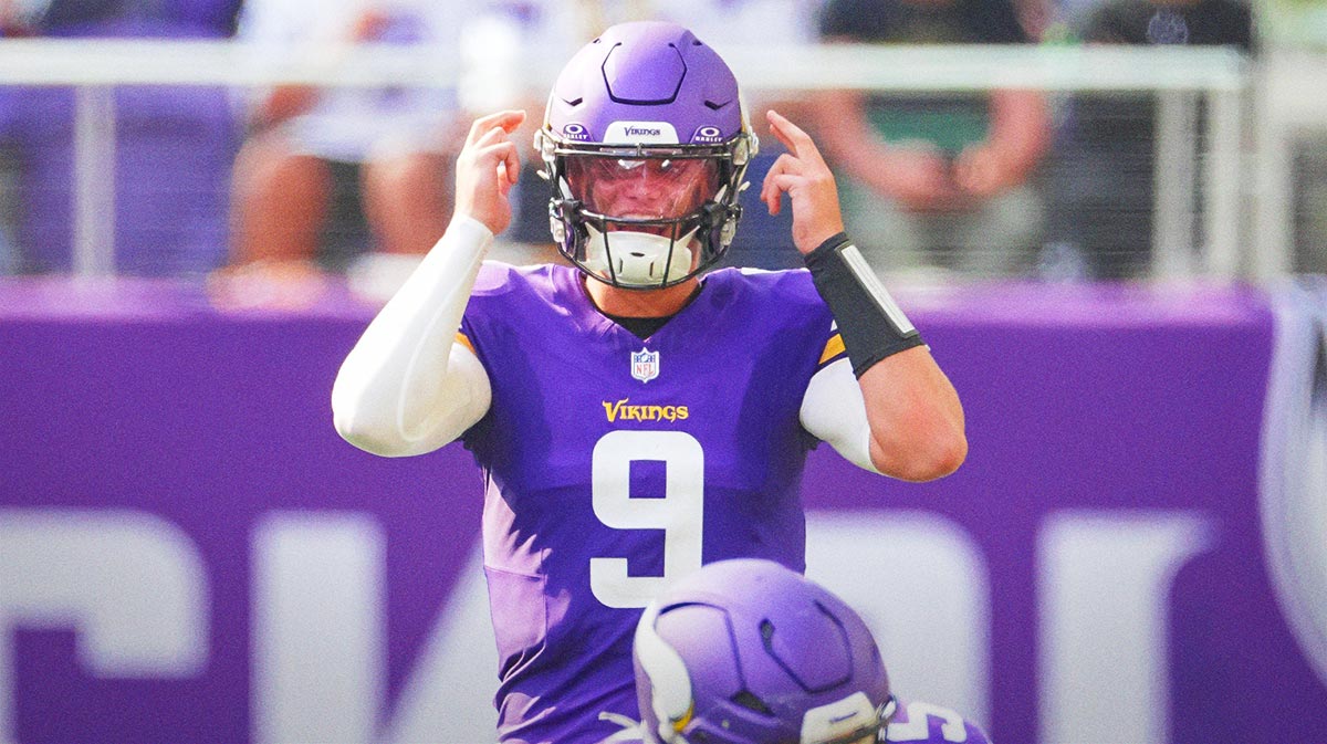
[(520, 175), (520, 158), (511, 133), (524, 121), (525, 111), (520, 110), (475, 119), (456, 156), (456, 215), (484, 223), (494, 235), (511, 224), (507, 194)]

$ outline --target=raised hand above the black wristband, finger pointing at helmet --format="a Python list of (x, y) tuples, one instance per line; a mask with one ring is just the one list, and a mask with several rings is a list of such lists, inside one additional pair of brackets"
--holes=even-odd
[(839, 187), (811, 135), (770, 110), (770, 130), (788, 149), (770, 167), (760, 186), (760, 200), (771, 215), (782, 210), (783, 194), (792, 202), (792, 243), (803, 255), (843, 232)]

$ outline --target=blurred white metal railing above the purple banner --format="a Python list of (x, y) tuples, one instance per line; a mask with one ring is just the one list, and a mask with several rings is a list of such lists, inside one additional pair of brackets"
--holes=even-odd
[[(1149, 93), (1157, 101), (1151, 276), (1231, 279), (1286, 263), (1250, 259), (1241, 159), (1253, 80), (1246, 56), (1225, 48), (1099, 46), (719, 46), (748, 94), (770, 90)], [(464, 85), (467, 76), (508, 76), (512, 89), (541, 97), (559, 61), (535, 52), (486, 70), (466, 69), (454, 50), (391, 45), (293, 49), (280, 66), (269, 53), (230, 41), (20, 38), (0, 41), (0, 85), (73, 86), (76, 184), (73, 267), (80, 276), (114, 271), (107, 219), (114, 204), (115, 111), (123, 85), (318, 86)], [(1206, 105), (1200, 106), (1205, 99)], [(1201, 111), (1201, 114), (1200, 114)], [(1204, 138), (1196, 122), (1205, 117)], [(1204, 151), (1200, 153), (1200, 142)], [(1201, 164), (1200, 164), (1201, 163)], [(1201, 171), (1201, 174), (1200, 174)], [(1266, 176), (1271, 178), (1271, 176)], [(1201, 182), (1201, 187), (1198, 186)], [(1201, 231), (1194, 229), (1201, 188)], [(1262, 214), (1274, 214), (1263, 210)], [(1201, 243), (1201, 244), (1200, 244)]]

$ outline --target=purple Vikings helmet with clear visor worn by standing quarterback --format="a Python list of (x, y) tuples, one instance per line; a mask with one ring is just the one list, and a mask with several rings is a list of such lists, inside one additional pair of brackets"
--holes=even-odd
[(618, 24), (563, 68), (535, 135), (559, 249), (587, 275), (670, 286), (723, 255), (756, 153), (736, 78), (675, 24)]

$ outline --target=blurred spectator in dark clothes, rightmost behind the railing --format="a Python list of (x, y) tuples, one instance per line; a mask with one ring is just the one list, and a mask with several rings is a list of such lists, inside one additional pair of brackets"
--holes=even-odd
[[(1075, 31), (1089, 44), (1251, 46), (1249, 5), (1231, 0), (1108, 0)], [(1079, 252), (1093, 277), (1151, 269), (1154, 111), (1151, 94), (1080, 95), (1058, 133), (1050, 240)]]

